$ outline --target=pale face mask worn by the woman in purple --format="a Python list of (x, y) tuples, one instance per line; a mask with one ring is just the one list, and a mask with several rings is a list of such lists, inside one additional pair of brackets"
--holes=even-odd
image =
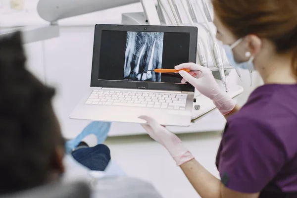
[(243, 41), (243, 39), (239, 39), (238, 41), (236, 41), (233, 45), (229, 46), (229, 45), (223, 45), (223, 48), (226, 51), (226, 55), (229, 59), (229, 62), (231, 64), (231, 66), (233, 67), (237, 67), (237, 68), (242, 68), (242, 69), (248, 69), (250, 71), (254, 71), (255, 70), (255, 66), (253, 64), (253, 60), (254, 57), (251, 56), (250, 52), (246, 52), (246, 57), (249, 57), (249, 60), (246, 62), (237, 62), (234, 58), (234, 54), (232, 49), (234, 49), (236, 46), (238, 46), (241, 42)]

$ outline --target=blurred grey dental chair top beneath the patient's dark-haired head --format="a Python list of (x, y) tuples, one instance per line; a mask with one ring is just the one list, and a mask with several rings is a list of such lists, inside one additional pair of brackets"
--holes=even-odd
[(90, 198), (91, 190), (86, 183), (55, 183), (32, 190), (0, 196), (0, 198)]

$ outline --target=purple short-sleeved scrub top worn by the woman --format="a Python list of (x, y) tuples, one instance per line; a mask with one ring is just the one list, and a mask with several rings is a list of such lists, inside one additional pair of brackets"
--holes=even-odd
[(297, 198), (297, 84), (257, 88), (227, 120), (216, 165), (231, 190)]

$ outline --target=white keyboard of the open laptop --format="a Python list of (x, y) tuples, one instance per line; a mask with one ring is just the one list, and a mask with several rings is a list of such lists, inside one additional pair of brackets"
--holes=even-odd
[(186, 94), (94, 90), (85, 104), (186, 109)]

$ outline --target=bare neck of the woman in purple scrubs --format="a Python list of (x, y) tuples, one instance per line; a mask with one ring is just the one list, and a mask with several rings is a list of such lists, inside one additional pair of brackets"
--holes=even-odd
[(297, 84), (292, 71), (292, 56), (274, 55), (257, 68), (265, 84)]

